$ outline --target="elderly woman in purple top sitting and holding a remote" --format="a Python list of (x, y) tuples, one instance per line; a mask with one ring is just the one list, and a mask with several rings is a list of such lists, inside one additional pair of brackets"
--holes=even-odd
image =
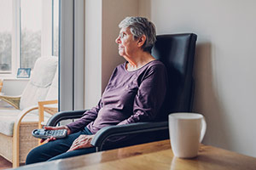
[(127, 17), (119, 24), (119, 55), (126, 59), (118, 65), (98, 105), (84, 112), (79, 120), (61, 127), (65, 139), (47, 139), (33, 149), (26, 164), (52, 161), (95, 152), (90, 144), (102, 127), (152, 121), (166, 96), (166, 67), (151, 55), (156, 40), (154, 24), (142, 17)]

